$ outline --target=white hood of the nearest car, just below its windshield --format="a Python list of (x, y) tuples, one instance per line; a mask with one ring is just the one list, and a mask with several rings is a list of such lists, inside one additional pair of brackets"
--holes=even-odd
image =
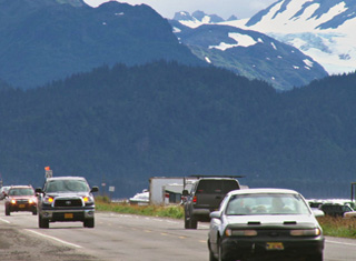
[(280, 225), (280, 224), (310, 224), (317, 223), (313, 214), (275, 214), (275, 215), (227, 215), (230, 224), (258, 224)]

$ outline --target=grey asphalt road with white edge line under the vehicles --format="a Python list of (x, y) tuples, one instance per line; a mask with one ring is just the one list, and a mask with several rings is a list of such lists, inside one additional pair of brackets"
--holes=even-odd
[[(0, 203), (0, 259), (204, 261), (208, 260), (208, 223), (185, 230), (181, 220), (97, 213), (96, 228), (81, 222), (50, 223), (39, 229), (30, 212), (4, 215)], [(356, 260), (356, 240), (327, 238), (326, 261)]]

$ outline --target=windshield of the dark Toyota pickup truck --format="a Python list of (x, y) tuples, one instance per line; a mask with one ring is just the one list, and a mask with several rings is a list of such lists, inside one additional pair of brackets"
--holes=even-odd
[(51, 180), (46, 184), (46, 192), (88, 192), (85, 180)]

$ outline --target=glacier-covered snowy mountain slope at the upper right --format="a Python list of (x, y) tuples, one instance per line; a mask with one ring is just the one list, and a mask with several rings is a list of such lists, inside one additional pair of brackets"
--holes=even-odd
[(330, 74), (356, 69), (354, 0), (279, 0), (245, 26), (298, 48)]

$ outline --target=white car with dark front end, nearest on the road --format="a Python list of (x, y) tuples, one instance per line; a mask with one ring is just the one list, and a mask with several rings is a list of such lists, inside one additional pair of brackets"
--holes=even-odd
[(210, 261), (323, 260), (324, 235), (301, 194), (284, 189), (229, 192), (210, 214)]

